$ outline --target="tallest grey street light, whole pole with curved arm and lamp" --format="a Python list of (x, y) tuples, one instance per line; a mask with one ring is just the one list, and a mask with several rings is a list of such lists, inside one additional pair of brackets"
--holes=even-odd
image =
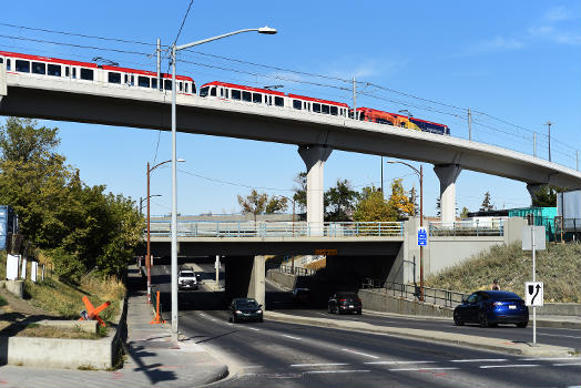
[(245, 29), (234, 32), (224, 33), (222, 35), (198, 40), (192, 43), (175, 45), (172, 44), (172, 339), (179, 340), (177, 336), (177, 167), (176, 167), (176, 119), (175, 119), (175, 100), (177, 88), (175, 84), (175, 53), (180, 50), (185, 50), (194, 45), (212, 42), (214, 40), (235, 35), (243, 32), (258, 32), (265, 34), (275, 34), (277, 31), (268, 25), (259, 29)]

